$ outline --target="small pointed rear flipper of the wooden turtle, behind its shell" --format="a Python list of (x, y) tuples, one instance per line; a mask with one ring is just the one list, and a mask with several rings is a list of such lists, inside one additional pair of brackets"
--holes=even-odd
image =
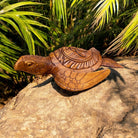
[(120, 64), (110, 58), (102, 59), (102, 66), (113, 67), (113, 68), (123, 68)]

